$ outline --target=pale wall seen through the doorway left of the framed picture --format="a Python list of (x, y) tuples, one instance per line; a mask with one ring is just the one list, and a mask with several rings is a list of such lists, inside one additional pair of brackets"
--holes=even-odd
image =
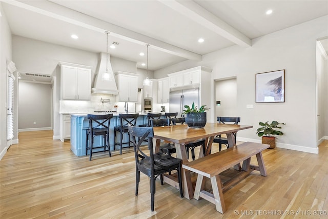
[(239, 117), (237, 114), (237, 79), (225, 79), (215, 82), (215, 101), (221, 101), (220, 106), (215, 107), (215, 117)]

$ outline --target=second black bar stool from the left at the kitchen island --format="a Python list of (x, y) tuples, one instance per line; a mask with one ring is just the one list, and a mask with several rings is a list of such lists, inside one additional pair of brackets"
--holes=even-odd
[[(122, 154), (122, 145), (124, 144), (129, 144), (130, 148), (130, 133), (129, 133), (129, 128), (128, 125), (131, 124), (132, 126), (135, 126), (137, 122), (137, 117), (139, 117), (139, 113), (134, 113), (134, 114), (118, 114), (118, 118), (120, 120), (120, 125), (114, 127), (114, 150), (115, 150), (115, 145), (120, 146), (120, 151), (119, 154)], [(115, 142), (116, 141), (116, 132), (120, 133), (120, 142)], [(123, 142), (123, 134), (128, 133), (129, 136), (129, 141), (128, 142)]]

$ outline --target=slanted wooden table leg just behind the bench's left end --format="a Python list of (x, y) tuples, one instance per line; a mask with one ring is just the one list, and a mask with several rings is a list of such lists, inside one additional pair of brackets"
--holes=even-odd
[[(187, 153), (186, 153), (186, 146), (180, 144), (174, 144), (176, 149), (176, 157), (182, 160), (182, 164), (187, 164)], [(182, 188), (183, 188), (183, 195), (191, 200), (194, 196), (194, 189), (191, 182), (191, 175), (190, 171), (182, 168)]]

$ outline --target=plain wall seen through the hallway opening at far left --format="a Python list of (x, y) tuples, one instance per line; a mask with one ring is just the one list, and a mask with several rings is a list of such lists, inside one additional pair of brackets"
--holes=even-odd
[(51, 88), (51, 84), (19, 81), (19, 131), (51, 130)]

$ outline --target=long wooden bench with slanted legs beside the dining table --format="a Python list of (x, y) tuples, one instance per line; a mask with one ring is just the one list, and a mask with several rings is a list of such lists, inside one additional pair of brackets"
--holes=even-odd
[[(269, 147), (270, 145), (245, 142), (227, 150), (183, 164), (183, 168), (198, 173), (194, 198), (199, 200), (199, 197), (202, 197), (215, 204), (217, 211), (224, 213), (226, 206), (224, 205), (223, 191), (226, 191), (232, 185), (243, 180), (253, 170), (258, 170), (262, 176), (267, 176), (261, 151)], [(251, 157), (253, 155), (256, 155), (258, 166), (251, 165)], [(240, 167), (241, 162), (242, 166), (239, 171), (236, 171), (237, 174), (227, 182), (222, 183), (219, 174), (233, 166), (237, 167), (239, 165)], [(204, 176), (211, 179), (213, 194), (203, 190)]]

